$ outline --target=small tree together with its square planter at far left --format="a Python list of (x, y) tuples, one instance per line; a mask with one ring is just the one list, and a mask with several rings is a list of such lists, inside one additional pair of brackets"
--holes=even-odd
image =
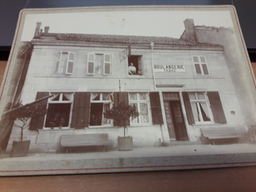
[[(16, 110), (15, 110), (16, 109)], [(20, 128), (20, 141), (13, 141), (11, 156), (27, 156), (30, 141), (23, 141), (23, 130), (28, 128), (32, 117), (40, 117), (46, 114), (46, 107), (42, 104), (15, 105), (12, 112), (4, 115), (5, 120), (14, 121), (13, 126)]]

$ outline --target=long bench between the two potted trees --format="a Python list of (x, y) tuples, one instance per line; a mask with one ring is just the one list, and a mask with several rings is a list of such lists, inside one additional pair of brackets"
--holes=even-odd
[(114, 141), (109, 140), (107, 133), (62, 135), (60, 138), (60, 145), (65, 149), (85, 146), (103, 146), (103, 151), (105, 151), (105, 146), (113, 146), (113, 144)]

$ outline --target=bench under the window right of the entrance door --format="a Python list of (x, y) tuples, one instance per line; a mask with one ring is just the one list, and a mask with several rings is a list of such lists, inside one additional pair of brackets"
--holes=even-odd
[(233, 127), (201, 128), (202, 143), (215, 144), (218, 141), (237, 141), (240, 137)]

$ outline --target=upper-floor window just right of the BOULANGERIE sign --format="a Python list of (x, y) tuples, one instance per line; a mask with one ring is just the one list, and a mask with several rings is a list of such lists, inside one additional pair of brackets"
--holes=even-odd
[(193, 62), (197, 75), (209, 75), (205, 56), (193, 56)]

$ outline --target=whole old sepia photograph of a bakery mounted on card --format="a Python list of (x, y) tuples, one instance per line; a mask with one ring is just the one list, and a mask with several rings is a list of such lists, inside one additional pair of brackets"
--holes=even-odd
[(255, 85), (232, 6), (23, 9), (0, 175), (255, 165)]

